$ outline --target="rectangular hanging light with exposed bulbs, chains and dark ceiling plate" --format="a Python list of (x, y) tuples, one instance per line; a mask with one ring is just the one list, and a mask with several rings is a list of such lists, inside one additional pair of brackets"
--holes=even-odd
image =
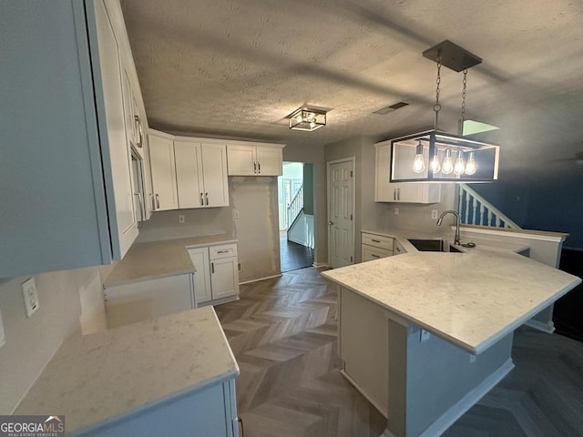
[[(463, 137), (465, 120), (465, 93), (467, 69), (482, 59), (444, 41), (424, 51), (437, 64), (435, 81), (435, 121), (433, 130), (395, 138), (391, 141), (391, 182), (491, 182), (498, 178), (500, 147)], [(456, 72), (464, 71), (462, 91), (462, 117), (459, 135), (440, 132), (437, 127), (441, 85), (441, 66)], [(452, 155), (455, 153), (455, 161)], [(443, 161), (440, 162), (440, 156)], [(429, 161), (429, 157), (431, 160)], [(429, 165), (425, 166), (425, 158)], [(467, 162), (465, 161), (467, 159)]]

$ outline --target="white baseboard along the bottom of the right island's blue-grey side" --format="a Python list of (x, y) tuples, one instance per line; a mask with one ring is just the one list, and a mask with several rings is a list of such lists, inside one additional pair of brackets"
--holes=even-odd
[[(435, 435), (443, 434), (450, 426), (454, 424), (465, 412), (472, 408), (477, 401), (482, 399), (484, 395), (494, 387), (496, 384), (514, 369), (514, 363), (511, 358), (508, 358), (494, 373), (482, 381), (474, 390), (468, 392), (462, 399), (457, 401), (449, 410), (442, 414), (439, 419), (424, 429), (424, 432), (419, 434), (419, 437), (435, 437)], [(383, 434), (390, 436), (391, 434)]]

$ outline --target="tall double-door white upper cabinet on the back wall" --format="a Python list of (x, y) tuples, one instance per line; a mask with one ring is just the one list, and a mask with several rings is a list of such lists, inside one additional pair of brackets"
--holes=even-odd
[(175, 137), (174, 156), (180, 209), (229, 206), (225, 145)]

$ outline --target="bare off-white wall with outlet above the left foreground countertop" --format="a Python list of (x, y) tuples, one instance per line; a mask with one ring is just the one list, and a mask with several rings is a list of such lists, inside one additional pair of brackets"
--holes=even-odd
[(0, 348), (0, 414), (10, 414), (63, 340), (106, 329), (102, 281), (112, 269), (94, 267), (34, 275), (38, 310), (26, 318), (20, 284), (0, 279), (5, 345)]

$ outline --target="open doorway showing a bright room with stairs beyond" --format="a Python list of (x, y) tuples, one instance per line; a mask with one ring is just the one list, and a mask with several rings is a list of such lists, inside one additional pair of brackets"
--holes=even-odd
[(312, 164), (284, 162), (278, 178), (281, 271), (313, 265)]

